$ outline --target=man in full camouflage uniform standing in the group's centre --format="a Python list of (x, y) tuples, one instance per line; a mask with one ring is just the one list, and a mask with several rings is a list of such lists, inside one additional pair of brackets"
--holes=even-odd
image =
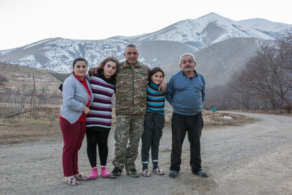
[[(126, 61), (119, 63), (116, 78), (117, 127), (114, 132), (116, 143), (112, 162), (115, 167), (109, 175), (112, 179), (121, 175), (124, 167), (128, 175), (139, 177), (134, 162), (138, 156), (146, 114), (147, 78), (150, 69), (138, 61), (137, 46), (126, 46), (124, 56)], [(164, 92), (166, 82), (162, 82), (161, 87)]]

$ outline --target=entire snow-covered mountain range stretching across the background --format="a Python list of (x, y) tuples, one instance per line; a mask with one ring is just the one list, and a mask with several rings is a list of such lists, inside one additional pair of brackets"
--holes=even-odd
[(187, 19), (157, 32), (133, 37), (117, 36), (103, 40), (49, 38), (23, 47), (0, 51), (0, 61), (68, 73), (77, 57), (97, 65), (106, 56), (124, 60), (127, 44), (138, 45), (139, 60), (150, 66), (162, 66), (181, 54), (202, 50), (214, 43), (236, 37), (276, 39), (292, 25), (265, 19), (234, 21), (216, 13)]

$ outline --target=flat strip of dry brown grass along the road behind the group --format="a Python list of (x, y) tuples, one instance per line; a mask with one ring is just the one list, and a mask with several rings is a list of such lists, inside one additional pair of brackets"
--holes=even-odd
[[(62, 139), (62, 133), (59, 127), (60, 108), (39, 107), (37, 109), (36, 119), (29, 118), (29, 113), (23, 118), (18, 115), (11, 118), (0, 118), (0, 145), (5, 143), (21, 143), (37, 140), (56, 140)], [(116, 116), (113, 110), (113, 125), (116, 127)], [(230, 116), (233, 120), (224, 119), (223, 116)], [(166, 109), (165, 130), (171, 129), (172, 111)], [(249, 117), (234, 114), (203, 112), (204, 130), (213, 128), (223, 128), (226, 126), (241, 126), (251, 123), (254, 120)]]

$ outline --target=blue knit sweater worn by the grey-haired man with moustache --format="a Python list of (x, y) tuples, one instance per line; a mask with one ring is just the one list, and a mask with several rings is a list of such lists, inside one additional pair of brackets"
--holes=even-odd
[(195, 76), (190, 79), (181, 70), (172, 75), (168, 82), (166, 100), (175, 113), (196, 115), (202, 111), (206, 97), (205, 78), (194, 72)]

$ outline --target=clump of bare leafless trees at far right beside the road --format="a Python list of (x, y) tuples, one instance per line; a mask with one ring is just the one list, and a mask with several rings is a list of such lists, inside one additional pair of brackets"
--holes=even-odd
[[(246, 98), (251, 95), (263, 101), (268, 99), (272, 109), (278, 108), (279, 111), (282, 111), (284, 103), (291, 102), (288, 94), (292, 91), (292, 31), (287, 34), (276, 42), (262, 44), (245, 68), (233, 77), (232, 88), (238, 89), (243, 105), (248, 106)], [(237, 100), (240, 101), (239, 98)]]

